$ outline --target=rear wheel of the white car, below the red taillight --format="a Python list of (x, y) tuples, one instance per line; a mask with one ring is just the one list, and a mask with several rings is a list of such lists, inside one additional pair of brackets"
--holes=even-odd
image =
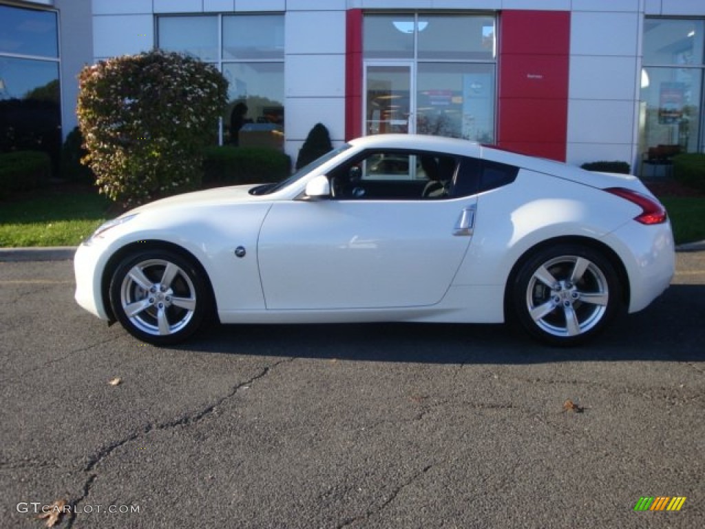
[(514, 276), (509, 303), (519, 324), (553, 346), (591, 339), (622, 309), (623, 289), (611, 262), (594, 248), (540, 248)]

